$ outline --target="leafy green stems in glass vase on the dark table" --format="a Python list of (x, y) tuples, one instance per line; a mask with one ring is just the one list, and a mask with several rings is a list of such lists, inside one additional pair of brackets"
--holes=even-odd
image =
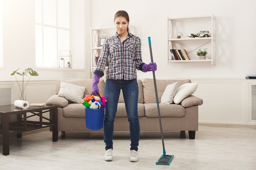
[[(20, 68), (18, 68), (18, 69), (20, 69)], [(31, 78), (32, 76), (38, 76), (38, 73), (37, 73), (36, 71), (34, 71), (32, 68), (26, 68), (26, 69), (22, 72), (22, 74), (21, 74), (21, 73), (18, 73), (18, 72), (17, 72), (18, 69), (17, 69), (16, 71), (13, 71), (13, 73), (11, 73), (11, 75), (14, 75), (14, 77), (15, 77), (15, 79), (16, 79), (18, 85), (19, 85), (19, 88), (20, 88), (20, 84), (19, 84), (19, 82), (18, 82), (18, 80), (17, 80), (15, 74), (18, 74), (18, 75), (21, 75), (21, 76), (22, 76), (22, 88), (20, 88), (20, 93), (21, 93), (20, 99), (21, 99), (21, 100), (24, 100), (24, 91), (25, 91), (25, 88), (26, 88), (26, 86), (27, 86), (27, 83), (29, 82), (29, 80), (30, 80), (30, 78)], [(24, 75), (27, 75), (28, 73), (30, 74), (30, 77), (29, 77), (29, 79), (27, 80), (27, 83), (26, 83), (25, 86), (24, 86)]]

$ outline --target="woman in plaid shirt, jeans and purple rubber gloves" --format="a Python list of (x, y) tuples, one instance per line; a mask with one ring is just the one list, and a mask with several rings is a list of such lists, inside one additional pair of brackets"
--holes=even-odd
[(99, 78), (104, 75), (103, 71), (108, 62), (104, 96), (107, 99), (104, 116), (103, 132), (106, 144), (105, 161), (112, 161), (114, 121), (117, 113), (117, 103), (122, 89), (126, 105), (126, 113), (130, 124), (130, 161), (137, 162), (139, 145), (139, 117), (137, 70), (143, 72), (156, 71), (156, 63), (145, 64), (141, 59), (141, 40), (129, 33), (129, 16), (126, 11), (117, 11), (114, 18), (117, 32), (108, 38), (102, 46), (102, 53), (94, 71), (92, 80), (92, 94), (99, 94)]

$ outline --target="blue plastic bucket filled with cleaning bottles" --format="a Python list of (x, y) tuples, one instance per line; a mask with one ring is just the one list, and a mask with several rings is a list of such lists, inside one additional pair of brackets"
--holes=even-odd
[(85, 107), (85, 126), (90, 130), (100, 130), (103, 128), (105, 108), (92, 109)]

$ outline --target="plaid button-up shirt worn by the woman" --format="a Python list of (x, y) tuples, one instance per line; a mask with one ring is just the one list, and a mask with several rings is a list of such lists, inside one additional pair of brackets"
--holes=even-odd
[[(128, 33), (126, 40), (121, 42), (117, 33), (105, 40), (102, 53), (97, 62), (95, 74), (102, 72), (108, 62), (109, 66), (106, 79), (137, 79), (137, 70), (142, 71), (141, 40), (139, 37)], [(98, 75), (98, 74), (97, 74)], [(103, 75), (100, 75), (102, 77)]]

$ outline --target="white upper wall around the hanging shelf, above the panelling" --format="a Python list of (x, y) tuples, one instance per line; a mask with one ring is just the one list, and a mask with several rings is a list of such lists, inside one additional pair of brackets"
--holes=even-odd
[[(255, 0), (92, 0), (93, 27), (114, 25), (114, 15), (125, 10), (130, 24), (142, 41), (143, 61), (150, 62), (148, 36), (151, 38), (157, 78), (232, 78), (256, 74)], [(216, 15), (216, 66), (210, 63), (170, 63), (167, 65), (167, 17)], [(251, 49), (251, 50), (250, 50)], [(138, 72), (139, 77), (152, 73)]]

